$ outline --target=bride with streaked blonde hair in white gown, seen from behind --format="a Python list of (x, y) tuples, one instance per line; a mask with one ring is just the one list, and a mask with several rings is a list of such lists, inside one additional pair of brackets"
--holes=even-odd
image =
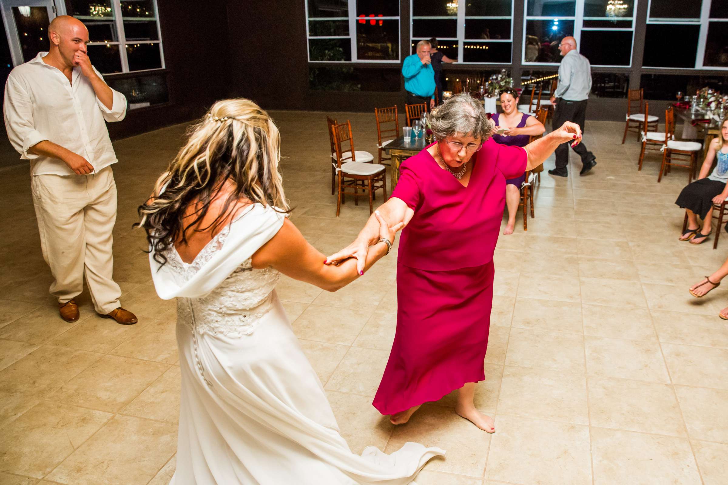
[[(286, 219), (280, 138), (250, 100), (215, 103), (139, 212), (159, 297), (177, 299), (182, 373), (177, 470), (187, 484), (414, 483), (439, 448), (349, 450), (278, 300), (280, 273), (335, 291), (356, 260), (325, 265)], [(401, 229), (383, 219), (365, 270)]]

